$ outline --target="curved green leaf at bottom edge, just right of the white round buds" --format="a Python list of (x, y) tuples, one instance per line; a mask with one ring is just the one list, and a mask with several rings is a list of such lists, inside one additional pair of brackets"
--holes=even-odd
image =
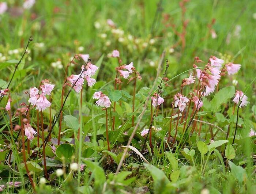
[(97, 163), (90, 160), (84, 160), (84, 163), (86, 163), (87, 167), (89, 167), (93, 172), (92, 176), (94, 177), (94, 188), (101, 190), (104, 183), (106, 182), (104, 170)]

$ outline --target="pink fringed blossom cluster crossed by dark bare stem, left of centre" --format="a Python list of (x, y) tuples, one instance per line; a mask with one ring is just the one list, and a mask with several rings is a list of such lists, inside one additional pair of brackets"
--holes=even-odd
[(86, 62), (86, 65), (82, 65), (82, 71), (79, 75), (72, 74), (67, 78), (67, 80), (70, 82), (67, 83), (67, 85), (72, 87), (72, 85), (75, 84), (73, 88), (76, 93), (80, 93), (82, 90), (84, 79), (86, 79), (87, 85), (89, 87), (93, 87), (93, 85), (96, 83), (96, 80), (91, 78), (91, 76), (94, 76), (96, 71), (99, 69), (96, 65), (93, 65), (90, 61), (88, 61), (89, 54), (78, 54), (78, 56), (81, 57), (84, 62)]

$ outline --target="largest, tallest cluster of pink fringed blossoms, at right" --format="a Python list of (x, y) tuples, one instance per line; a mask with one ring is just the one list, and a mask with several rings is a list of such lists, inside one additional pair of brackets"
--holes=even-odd
[[(215, 88), (221, 79), (221, 75), (225, 74), (226, 71), (228, 75), (233, 75), (234, 73), (237, 73), (241, 67), (240, 64), (233, 63), (222, 66), (224, 61), (215, 56), (211, 56), (209, 62), (207, 63), (204, 71), (196, 69), (197, 78), (200, 79), (202, 85), (206, 86), (206, 91), (204, 93), (205, 96), (215, 91)], [(198, 68), (195, 64), (193, 64), (193, 67)]]

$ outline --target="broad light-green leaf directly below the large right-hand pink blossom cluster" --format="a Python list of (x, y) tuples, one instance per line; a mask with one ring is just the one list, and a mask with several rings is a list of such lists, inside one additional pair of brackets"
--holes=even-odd
[(221, 104), (225, 103), (227, 99), (232, 98), (235, 94), (235, 87), (229, 86), (219, 90), (217, 94), (214, 95), (214, 98), (211, 100), (211, 107), (214, 112), (217, 112)]

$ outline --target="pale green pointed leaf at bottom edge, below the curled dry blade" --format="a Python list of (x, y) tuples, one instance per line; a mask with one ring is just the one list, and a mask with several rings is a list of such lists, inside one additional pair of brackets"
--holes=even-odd
[(165, 176), (165, 173), (151, 164), (145, 163), (144, 165), (146, 166), (147, 170), (150, 172), (154, 180), (154, 193), (168, 193), (166, 185), (169, 183), (169, 180)]

